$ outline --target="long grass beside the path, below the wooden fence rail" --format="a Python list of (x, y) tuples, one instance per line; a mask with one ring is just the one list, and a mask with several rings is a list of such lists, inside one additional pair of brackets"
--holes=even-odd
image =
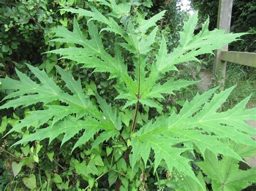
[[(190, 74), (190, 67), (181, 68), (180, 72), (170, 74), (170, 76), (177, 77), (177, 79), (195, 80)], [(205, 68), (205, 73), (212, 73), (212, 67)], [(202, 70), (201, 70), (202, 72)], [(223, 109), (227, 110), (233, 108), (237, 103), (244, 100), (247, 96), (251, 95), (250, 101), (247, 104), (247, 108), (256, 107), (256, 68), (238, 65), (235, 63), (227, 63), (225, 88), (237, 85), (228, 97), (227, 101), (223, 105)], [(210, 87), (213, 88), (213, 87)], [(184, 88), (182, 91), (177, 92), (176, 95), (166, 95), (164, 101), (165, 107), (174, 106), (180, 109), (179, 102), (184, 102), (186, 99), (192, 100), (197, 94), (202, 94), (202, 89), (196, 85), (192, 85), (189, 88)], [(182, 105), (182, 104), (181, 104)]]

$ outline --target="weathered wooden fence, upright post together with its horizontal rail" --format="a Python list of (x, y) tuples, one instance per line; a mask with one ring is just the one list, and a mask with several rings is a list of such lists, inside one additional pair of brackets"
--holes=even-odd
[[(219, 0), (217, 28), (230, 32), (231, 14), (233, 0)], [(221, 83), (225, 83), (226, 63), (233, 62), (240, 65), (256, 67), (256, 53), (250, 52), (233, 52), (228, 51), (228, 45), (223, 46), (221, 50), (215, 51), (213, 75), (221, 68), (223, 79)]]

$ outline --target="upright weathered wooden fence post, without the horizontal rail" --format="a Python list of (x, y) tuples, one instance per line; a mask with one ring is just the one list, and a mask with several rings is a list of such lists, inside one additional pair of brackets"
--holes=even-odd
[[(233, 0), (219, 0), (217, 28), (226, 30), (226, 33), (230, 32), (232, 6), (233, 6)], [(221, 50), (227, 51), (228, 45), (223, 46)], [(213, 76), (217, 73), (217, 70), (220, 67), (221, 73), (223, 75), (223, 79), (221, 79), (220, 82), (224, 85), (225, 74), (226, 74), (226, 61), (220, 60), (221, 50), (215, 51), (215, 58), (214, 58), (214, 64), (213, 64)]]

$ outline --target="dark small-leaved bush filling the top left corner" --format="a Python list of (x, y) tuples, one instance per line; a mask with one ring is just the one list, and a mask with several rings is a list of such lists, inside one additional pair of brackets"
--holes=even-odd
[[(0, 16), (0, 63), (1, 76), (15, 75), (14, 68), (25, 70), (24, 62), (31, 65), (42, 63), (47, 73), (53, 74), (58, 62), (53, 54), (42, 54), (60, 44), (48, 43), (50, 29), (68, 27), (69, 16), (58, 11), (76, 5), (84, 7), (80, 0), (67, 1), (2, 1)], [(72, 18), (71, 18), (72, 19)], [(4, 70), (4, 72), (2, 71)]]

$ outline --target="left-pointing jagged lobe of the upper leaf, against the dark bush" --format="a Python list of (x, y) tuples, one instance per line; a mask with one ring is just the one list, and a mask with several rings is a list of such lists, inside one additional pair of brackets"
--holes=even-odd
[(49, 52), (60, 54), (63, 56), (62, 58), (83, 63), (84, 67), (95, 68), (95, 72), (109, 72), (112, 74), (112, 77), (116, 77), (118, 74), (124, 73), (126, 70), (124, 63), (117, 61), (116, 58), (113, 58), (105, 51), (102, 39), (97, 32), (97, 26), (93, 24), (93, 22), (89, 22), (87, 25), (91, 37), (90, 40), (87, 40), (84, 37), (76, 18), (74, 18), (73, 32), (69, 31), (65, 27), (52, 30), (52, 32), (55, 33), (55, 37), (60, 38), (56, 38), (51, 41), (58, 41), (62, 43), (72, 42), (82, 45), (83, 48), (60, 48)]

